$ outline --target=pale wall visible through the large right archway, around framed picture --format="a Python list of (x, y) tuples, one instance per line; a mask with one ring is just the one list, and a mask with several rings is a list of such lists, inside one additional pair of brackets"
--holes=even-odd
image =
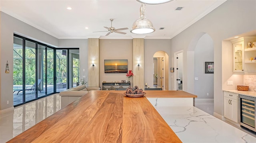
[(214, 76), (212, 73), (205, 73), (205, 62), (214, 61), (212, 38), (204, 34), (198, 40), (194, 52), (194, 77), (198, 77), (198, 80), (194, 80), (194, 94), (197, 98), (213, 99)]

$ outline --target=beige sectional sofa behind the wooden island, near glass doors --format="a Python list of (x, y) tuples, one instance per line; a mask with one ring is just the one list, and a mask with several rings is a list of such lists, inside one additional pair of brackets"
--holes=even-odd
[(86, 95), (91, 90), (100, 90), (100, 87), (86, 87), (86, 85), (79, 85), (60, 92), (61, 108), (64, 108), (81, 96)]

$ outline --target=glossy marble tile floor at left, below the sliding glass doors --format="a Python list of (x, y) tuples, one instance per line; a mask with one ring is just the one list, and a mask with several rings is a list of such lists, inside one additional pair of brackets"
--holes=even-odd
[(0, 115), (0, 143), (5, 143), (61, 109), (59, 94), (17, 106)]

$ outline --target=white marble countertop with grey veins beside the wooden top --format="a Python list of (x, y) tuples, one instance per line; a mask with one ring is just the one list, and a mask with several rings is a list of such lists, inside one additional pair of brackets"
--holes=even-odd
[(256, 143), (256, 137), (194, 106), (155, 108), (183, 143)]

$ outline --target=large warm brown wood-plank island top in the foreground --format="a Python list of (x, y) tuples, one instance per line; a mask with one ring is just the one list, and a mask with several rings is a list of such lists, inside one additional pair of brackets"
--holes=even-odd
[(8, 143), (181, 143), (146, 97), (90, 91)]

